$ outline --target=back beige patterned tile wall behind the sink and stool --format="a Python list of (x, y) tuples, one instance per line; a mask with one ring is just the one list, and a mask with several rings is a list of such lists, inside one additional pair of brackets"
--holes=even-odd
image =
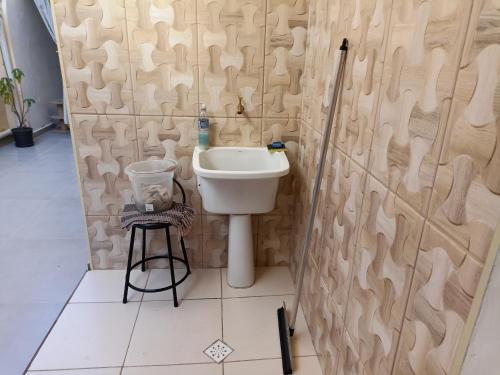
[[(95, 268), (123, 268), (124, 168), (174, 159), (197, 215), (195, 266), (227, 263), (227, 217), (202, 209), (191, 162), (206, 103), (214, 146), (286, 143), (291, 172), (255, 217), (259, 265), (287, 265), (295, 209), (308, 0), (54, 0)], [(245, 113), (237, 115), (239, 98)], [(180, 198), (180, 197), (178, 197)], [(147, 239), (160, 253), (164, 235)], [(163, 239), (162, 239), (163, 238)], [(161, 264), (160, 264), (161, 266)]]

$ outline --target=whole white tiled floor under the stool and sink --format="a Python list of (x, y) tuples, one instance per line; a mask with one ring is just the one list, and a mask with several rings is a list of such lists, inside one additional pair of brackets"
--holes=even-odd
[[(88, 272), (28, 374), (280, 375), (276, 310), (283, 300), (292, 305), (292, 279), (286, 267), (257, 271), (252, 288), (234, 290), (225, 270), (194, 270), (178, 308), (171, 292), (130, 293), (124, 305), (124, 271)], [(168, 275), (137, 271), (131, 280), (158, 287)], [(234, 349), (221, 365), (203, 353), (217, 339)], [(292, 345), (294, 374), (320, 375), (302, 312)]]

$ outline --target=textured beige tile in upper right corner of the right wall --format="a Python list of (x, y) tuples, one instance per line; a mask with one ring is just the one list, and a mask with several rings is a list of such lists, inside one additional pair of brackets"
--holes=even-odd
[(500, 9), (475, 2), (431, 203), (431, 221), (484, 261), (500, 223)]

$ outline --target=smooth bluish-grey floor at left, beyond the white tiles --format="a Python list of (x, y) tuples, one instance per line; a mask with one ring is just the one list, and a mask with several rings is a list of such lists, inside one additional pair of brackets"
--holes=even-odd
[(87, 266), (71, 139), (0, 143), (0, 374), (22, 374)]

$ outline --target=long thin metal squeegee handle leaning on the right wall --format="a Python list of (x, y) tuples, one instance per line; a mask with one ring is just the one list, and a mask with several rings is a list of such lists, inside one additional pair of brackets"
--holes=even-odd
[(295, 293), (295, 299), (293, 301), (292, 320), (290, 323), (291, 334), (293, 334), (293, 331), (295, 329), (295, 322), (297, 320), (297, 313), (299, 310), (300, 296), (302, 294), (302, 287), (304, 284), (304, 273), (306, 268), (307, 255), (309, 254), (309, 242), (311, 241), (311, 235), (314, 226), (314, 217), (316, 216), (316, 209), (318, 208), (319, 189), (321, 186), (321, 179), (323, 178), (323, 171), (325, 169), (326, 154), (328, 152), (328, 142), (330, 141), (330, 134), (332, 132), (333, 118), (335, 117), (337, 99), (340, 91), (340, 84), (342, 83), (342, 77), (344, 75), (344, 67), (347, 57), (347, 48), (348, 48), (348, 42), (347, 39), (344, 39), (342, 41), (342, 45), (340, 46), (340, 59), (337, 69), (337, 76), (335, 78), (335, 86), (333, 89), (332, 104), (330, 105), (330, 111), (328, 113), (328, 122), (326, 124), (327, 126), (325, 135), (321, 143), (321, 157), (319, 159), (318, 173), (314, 181), (313, 200), (311, 203), (311, 207), (309, 208), (307, 233), (302, 248), (302, 255), (300, 258), (299, 279), (297, 283), (297, 291)]

